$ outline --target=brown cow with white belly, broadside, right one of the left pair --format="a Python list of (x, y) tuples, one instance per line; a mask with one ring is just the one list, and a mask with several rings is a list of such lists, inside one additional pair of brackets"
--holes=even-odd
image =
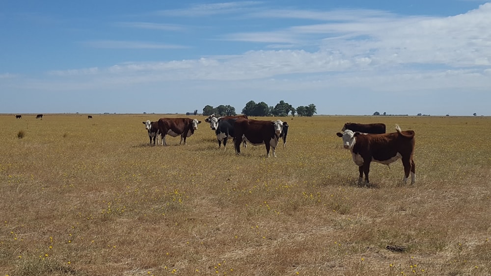
[(186, 138), (190, 137), (195, 130), (198, 129), (198, 124), (201, 121), (191, 118), (160, 118), (158, 121), (159, 131), (162, 135), (162, 144), (167, 145), (165, 142), (165, 136), (170, 135), (172, 137), (181, 136), (179, 144), (186, 144)]

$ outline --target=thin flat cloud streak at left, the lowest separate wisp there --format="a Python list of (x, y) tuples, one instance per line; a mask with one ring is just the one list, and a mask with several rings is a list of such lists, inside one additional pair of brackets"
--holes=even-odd
[(90, 48), (102, 49), (185, 49), (183, 45), (164, 44), (155, 42), (123, 41), (123, 40), (93, 40), (84, 41), (82, 44)]

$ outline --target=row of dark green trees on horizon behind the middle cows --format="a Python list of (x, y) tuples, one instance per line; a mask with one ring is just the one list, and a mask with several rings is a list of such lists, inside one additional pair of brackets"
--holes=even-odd
[[(214, 108), (213, 106), (207, 105), (203, 108), (203, 115), (209, 116), (215, 114), (217, 116), (235, 116), (237, 115), (235, 108), (230, 105), (219, 105)], [(288, 114), (295, 114), (299, 116), (311, 117), (317, 114), (317, 109), (314, 104), (308, 106), (299, 106), (294, 108), (292, 105), (285, 103), (281, 100), (274, 107), (268, 106), (265, 102), (255, 103), (254, 101), (249, 101), (246, 106), (242, 109), (242, 114), (246, 116), (258, 116), (258, 117), (268, 117), (268, 116), (279, 116), (286, 117)]]

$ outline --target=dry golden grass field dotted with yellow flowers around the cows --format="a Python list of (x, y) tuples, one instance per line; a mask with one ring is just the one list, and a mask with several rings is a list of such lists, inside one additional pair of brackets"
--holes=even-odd
[[(218, 150), (203, 116), (164, 147), (141, 123), (160, 114), (14, 115), (0, 115), (1, 276), (491, 275), (489, 117), (284, 117), (287, 147), (265, 158)], [(346, 121), (414, 130), (416, 184), (398, 161), (359, 187)]]

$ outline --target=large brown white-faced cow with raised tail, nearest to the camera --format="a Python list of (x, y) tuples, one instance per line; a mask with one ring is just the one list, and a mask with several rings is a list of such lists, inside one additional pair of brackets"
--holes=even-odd
[(351, 130), (336, 133), (343, 138), (343, 146), (351, 151), (353, 161), (358, 165), (358, 184), (363, 182), (365, 174), (365, 186), (369, 184), (368, 173), (372, 161), (389, 165), (402, 159), (404, 166), (404, 183), (408, 182), (411, 173), (411, 184), (416, 180), (416, 172), (412, 154), (414, 152), (414, 131), (401, 131), (396, 125), (394, 133), (387, 134), (361, 134)]

